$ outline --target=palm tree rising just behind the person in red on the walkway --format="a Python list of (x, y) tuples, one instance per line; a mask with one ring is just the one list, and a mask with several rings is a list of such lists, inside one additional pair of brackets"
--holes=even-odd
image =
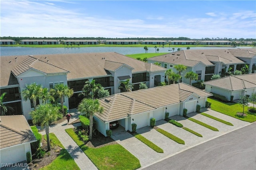
[(67, 96), (68, 98), (70, 98), (74, 94), (73, 89), (70, 89), (66, 84), (64, 85), (62, 83), (59, 83), (55, 84), (54, 88), (50, 90), (50, 94), (52, 96), (58, 96), (58, 98), (60, 99), (62, 114), (64, 115), (64, 97)]

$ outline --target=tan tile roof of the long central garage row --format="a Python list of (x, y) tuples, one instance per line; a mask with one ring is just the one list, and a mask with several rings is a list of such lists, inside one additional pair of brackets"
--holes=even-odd
[(113, 121), (122, 119), (128, 115), (155, 110), (159, 107), (180, 103), (191, 94), (199, 97), (208, 97), (212, 94), (190, 86), (179, 83), (167, 86), (159, 86), (133, 92), (114, 94), (99, 100), (104, 107), (102, 114), (95, 115), (102, 121)]

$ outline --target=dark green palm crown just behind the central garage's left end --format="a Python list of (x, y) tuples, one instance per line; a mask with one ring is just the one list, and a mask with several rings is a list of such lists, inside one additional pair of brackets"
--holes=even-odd
[(98, 90), (100, 90), (101, 87), (101, 84), (96, 83), (95, 80), (87, 80), (80, 95), (82, 95), (84, 98), (96, 99), (98, 97)]

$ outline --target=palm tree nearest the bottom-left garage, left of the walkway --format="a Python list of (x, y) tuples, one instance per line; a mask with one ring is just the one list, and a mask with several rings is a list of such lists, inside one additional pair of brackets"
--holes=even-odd
[(62, 117), (58, 110), (58, 107), (54, 107), (51, 104), (39, 105), (36, 110), (30, 112), (32, 122), (40, 124), (41, 127), (45, 127), (47, 150), (51, 150), (50, 139), (49, 139), (49, 125), (53, 121), (58, 120)]

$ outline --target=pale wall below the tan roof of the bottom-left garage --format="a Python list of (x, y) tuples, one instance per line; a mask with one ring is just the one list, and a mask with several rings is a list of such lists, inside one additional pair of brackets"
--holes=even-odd
[(17, 163), (26, 160), (24, 145), (10, 147), (1, 150), (2, 163)]

